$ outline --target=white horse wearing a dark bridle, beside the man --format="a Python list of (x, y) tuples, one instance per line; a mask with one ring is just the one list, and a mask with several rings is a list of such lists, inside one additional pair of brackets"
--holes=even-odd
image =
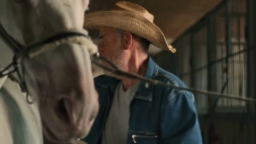
[(83, 29), (88, 4), (1, 0), (0, 26), (10, 37), (2, 35), (0, 65), (15, 54), (18, 75), (0, 78), (0, 143), (42, 144), (42, 131), (45, 142), (74, 143), (90, 131), (99, 106), (90, 61), (97, 47)]

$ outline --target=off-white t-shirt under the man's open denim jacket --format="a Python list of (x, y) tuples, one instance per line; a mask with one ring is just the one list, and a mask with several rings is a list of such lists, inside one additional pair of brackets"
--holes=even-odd
[(113, 102), (103, 129), (102, 144), (127, 143), (129, 129), (130, 102), (132, 101), (139, 83), (131, 86), (126, 92), (122, 82), (117, 85)]

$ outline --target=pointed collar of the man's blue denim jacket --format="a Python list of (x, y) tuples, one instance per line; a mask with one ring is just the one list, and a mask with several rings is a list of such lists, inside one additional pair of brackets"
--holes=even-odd
[[(159, 67), (156, 65), (153, 59), (149, 57), (148, 65), (147, 65), (147, 69), (144, 74), (144, 77), (154, 79), (158, 73), (158, 68)], [(101, 78), (97, 83), (100, 86), (105, 87), (106, 89), (110, 87), (111, 90), (115, 90), (115, 87), (119, 82), (120, 82), (119, 79), (105, 75), (104, 78)], [(147, 84), (146, 82), (141, 81), (138, 86), (137, 92), (135, 93), (134, 98), (152, 101), (154, 87), (155, 87), (154, 85)]]

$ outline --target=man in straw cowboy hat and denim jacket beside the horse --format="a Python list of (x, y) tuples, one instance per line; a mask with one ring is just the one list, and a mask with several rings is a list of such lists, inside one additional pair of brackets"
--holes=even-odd
[[(149, 44), (175, 52), (143, 7), (117, 2), (111, 11), (85, 15), (85, 28), (100, 29), (99, 53), (118, 68), (175, 86), (186, 85), (149, 57)], [(107, 63), (105, 63), (108, 66)], [(171, 65), (171, 62), (170, 62)], [(100, 110), (84, 141), (104, 143), (202, 143), (194, 95), (106, 75), (94, 79)]]

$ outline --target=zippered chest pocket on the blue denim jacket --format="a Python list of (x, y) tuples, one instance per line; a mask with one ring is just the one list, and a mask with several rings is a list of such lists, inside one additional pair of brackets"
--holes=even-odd
[(132, 132), (129, 141), (129, 144), (156, 144), (159, 142), (159, 136), (156, 132)]

